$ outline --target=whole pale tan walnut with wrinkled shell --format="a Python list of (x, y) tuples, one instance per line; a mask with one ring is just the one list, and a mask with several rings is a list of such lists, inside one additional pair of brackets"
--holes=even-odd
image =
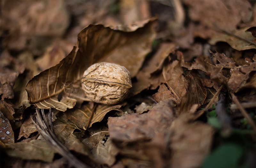
[(84, 71), (82, 87), (93, 102), (115, 104), (122, 101), (132, 87), (129, 71), (113, 63), (97, 63)]

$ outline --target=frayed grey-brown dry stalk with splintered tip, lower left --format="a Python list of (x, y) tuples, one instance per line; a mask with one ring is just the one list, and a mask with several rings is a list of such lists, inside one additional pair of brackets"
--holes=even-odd
[[(51, 109), (50, 109), (49, 113), (52, 113)], [(41, 115), (40, 115), (38, 109), (36, 109), (36, 114), (34, 115), (34, 117), (32, 115), (30, 117), (32, 118), (33, 123), (35, 124), (37, 131), (42, 135), (44, 140), (47, 141), (52, 146), (52, 148), (55, 149), (61, 156), (66, 158), (72, 166), (74, 166), (76, 168), (89, 168), (88, 165), (85, 165), (80, 160), (78, 160), (67, 149), (66, 146), (64, 146), (62, 143), (60, 143), (60, 141), (57, 139), (56, 135), (52, 132), (53, 131), (52, 115), (49, 114), (49, 118), (48, 118), (49, 123), (47, 123), (46, 117), (44, 115), (44, 110), (42, 110), (42, 115), (43, 115), (43, 118), (45, 119), (44, 121), (41, 118)], [(45, 122), (46, 122), (46, 124), (45, 124)], [(48, 124), (50, 125), (50, 127)]]

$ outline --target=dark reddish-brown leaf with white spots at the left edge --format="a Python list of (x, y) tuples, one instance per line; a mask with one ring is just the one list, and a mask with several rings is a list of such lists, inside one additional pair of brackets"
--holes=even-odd
[(0, 111), (0, 141), (3, 143), (14, 143), (12, 126), (4, 114)]

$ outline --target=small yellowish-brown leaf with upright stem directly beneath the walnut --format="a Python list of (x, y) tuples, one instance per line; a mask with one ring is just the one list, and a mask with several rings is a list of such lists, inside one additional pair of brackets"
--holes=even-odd
[[(117, 105), (104, 105), (104, 104), (99, 104), (96, 108), (95, 113), (93, 114), (92, 120), (88, 126), (90, 128), (93, 123), (95, 122), (100, 122), (104, 116), (112, 111), (119, 111), (121, 106), (124, 105), (122, 104), (117, 104)], [(72, 126), (75, 126), (76, 128), (79, 128), (81, 130), (86, 130), (86, 126), (88, 124), (89, 118), (92, 115), (92, 109), (89, 104), (83, 104), (81, 108), (73, 108), (68, 111), (65, 111), (64, 113), (60, 112), (56, 116), (58, 119), (61, 121), (68, 123)]]

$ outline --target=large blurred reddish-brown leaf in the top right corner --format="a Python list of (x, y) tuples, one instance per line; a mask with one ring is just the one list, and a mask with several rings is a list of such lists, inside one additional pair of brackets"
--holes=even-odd
[(248, 1), (183, 0), (183, 2), (188, 5), (189, 17), (208, 27), (218, 26), (224, 30), (232, 31), (241, 21), (249, 22), (253, 17), (252, 6)]

